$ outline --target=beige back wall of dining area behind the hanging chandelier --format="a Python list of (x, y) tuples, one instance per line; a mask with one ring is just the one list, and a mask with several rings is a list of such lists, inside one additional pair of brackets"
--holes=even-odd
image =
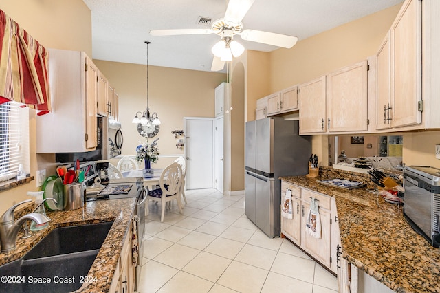
[[(150, 48), (151, 49), (151, 48)], [(146, 139), (137, 133), (131, 120), (146, 108), (146, 65), (94, 60), (119, 94), (119, 117), (124, 134), (123, 155), (135, 155)], [(184, 117), (214, 117), (214, 89), (225, 81), (225, 74), (149, 66), (149, 107), (162, 124), (159, 138), (161, 155), (180, 155), (173, 130), (184, 129)], [(155, 138), (148, 139), (153, 142)], [(154, 168), (164, 168), (175, 158), (162, 158)]]

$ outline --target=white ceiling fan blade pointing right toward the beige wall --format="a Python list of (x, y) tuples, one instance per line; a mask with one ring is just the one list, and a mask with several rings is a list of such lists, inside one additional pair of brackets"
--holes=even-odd
[(261, 30), (243, 30), (241, 39), (258, 43), (265, 43), (278, 47), (291, 48), (296, 44), (296, 36), (287, 36), (286, 34), (275, 34), (273, 32), (263, 32)]

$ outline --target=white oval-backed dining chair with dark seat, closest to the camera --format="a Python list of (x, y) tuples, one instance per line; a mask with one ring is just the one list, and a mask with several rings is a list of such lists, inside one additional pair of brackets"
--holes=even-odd
[(179, 164), (173, 162), (167, 166), (159, 179), (160, 188), (148, 191), (146, 195), (146, 215), (150, 213), (148, 202), (153, 200), (155, 202), (160, 202), (162, 204), (162, 213), (160, 215), (160, 221), (164, 221), (165, 209), (170, 209), (167, 207), (167, 203), (177, 199), (177, 206), (179, 206), (179, 211), (183, 215), (183, 210), (181, 207), (181, 184), (182, 184), (183, 173)]

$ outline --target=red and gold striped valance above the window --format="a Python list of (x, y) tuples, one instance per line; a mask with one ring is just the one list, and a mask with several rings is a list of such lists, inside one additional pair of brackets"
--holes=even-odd
[(38, 41), (0, 10), (0, 103), (14, 100), (50, 111), (48, 54)]

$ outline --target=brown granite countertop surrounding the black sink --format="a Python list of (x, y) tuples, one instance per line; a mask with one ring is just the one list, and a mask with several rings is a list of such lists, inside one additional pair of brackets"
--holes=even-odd
[(109, 234), (102, 243), (102, 247), (89, 270), (88, 277), (93, 278), (93, 281), (76, 291), (108, 292), (124, 239), (131, 233), (129, 224), (135, 210), (135, 202), (136, 198), (100, 200), (86, 202), (83, 208), (77, 210), (49, 212), (47, 216), (52, 219), (50, 226), (40, 231), (31, 232), (32, 236), (28, 239), (23, 239), (22, 232), (20, 232), (17, 237), (17, 248), (8, 253), (0, 253), (0, 265), (22, 257), (54, 228), (113, 221)]

